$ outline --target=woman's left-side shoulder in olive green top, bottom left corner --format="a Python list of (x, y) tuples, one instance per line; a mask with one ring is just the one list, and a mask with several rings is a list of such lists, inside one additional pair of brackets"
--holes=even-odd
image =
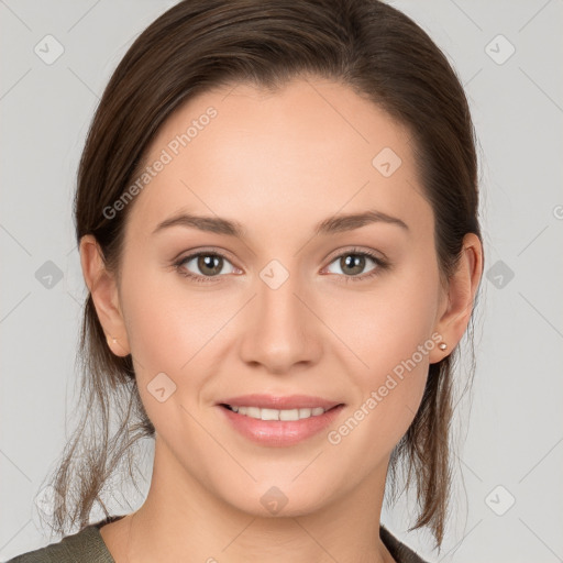
[(57, 543), (22, 553), (8, 563), (114, 563), (103, 544), (98, 526), (87, 526)]

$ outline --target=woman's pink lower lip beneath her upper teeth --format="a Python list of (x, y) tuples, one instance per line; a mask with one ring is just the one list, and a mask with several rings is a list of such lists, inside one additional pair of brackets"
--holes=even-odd
[(269, 446), (294, 445), (324, 430), (340, 415), (339, 405), (323, 415), (301, 420), (260, 420), (218, 406), (232, 427), (253, 442)]

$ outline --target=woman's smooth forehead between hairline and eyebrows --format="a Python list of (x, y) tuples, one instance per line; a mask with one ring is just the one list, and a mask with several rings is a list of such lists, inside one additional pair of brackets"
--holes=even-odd
[(308, 219), (312, 210), (323, 219), (374, 207), (428, 222), (409, 140), (405, 126), (344, 85), (213, 89), (158, 131), (145, 164), (166, 164), (136, 196), (131, 222), (153, 230), (185, 208), (296, 228), (300, 219), (318, 222)]

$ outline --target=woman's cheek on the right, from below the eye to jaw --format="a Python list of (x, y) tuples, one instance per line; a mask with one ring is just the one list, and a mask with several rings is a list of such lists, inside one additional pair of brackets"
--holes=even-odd
[(349, 427), (357, 423), (351, 442), (357, 440), (358, 446), (390, 451), (420, 406), (429, 355), (437, 345), (431, 338), (437, 287), (438, 269), (424, 272), (417, 264), (360, 300), (351, 292), (334, 302), (329, 322), (347, 347), (351, 383), (357, 389)]

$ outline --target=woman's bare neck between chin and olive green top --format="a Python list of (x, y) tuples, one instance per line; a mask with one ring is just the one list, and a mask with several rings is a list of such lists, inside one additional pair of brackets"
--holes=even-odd
[(313, 512), (264, 517), (218, 498), (165, 450), (157, 440), (147, 498), (126, 517), (126, 563), (394, 562), (379, 539), (386, 466)]

